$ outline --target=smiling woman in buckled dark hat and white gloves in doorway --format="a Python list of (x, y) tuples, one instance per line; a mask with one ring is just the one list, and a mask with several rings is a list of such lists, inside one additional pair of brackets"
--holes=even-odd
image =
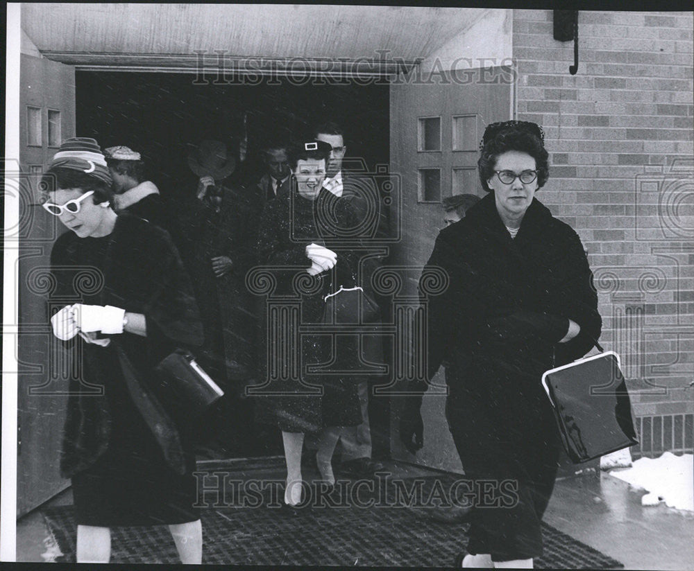
[[(276, 266), (271, 271), (277, 275), (278, 295), (301, 295), (301, 324), (321, 321), (325, 307), (323, 299), (330, 293), (331, 282), (345, 288), (355, 285), (353, 270), (358, 258), (340, 249), (336, 239), (340, 227), (355, 227), (355, 214), (348, 202), (322, 186), (331, 150), (332, 147), (323, 141), (290, 146), (291, 185), (283, 188), (276, 200), (268, 202), (260, 221), (259, 261)], [(314, 276), (313, 279), (303, 272)], [(297, 279), (302, 274), (305, 278)], [(305, 291), (301, 291), (301, 281), (307, 282)], [(307, 364), (329, 360), (328, 339), (319, 335), (304, 335), (302, 339), (300, 371), (305, 370)], [(278, 344), (290, 346), (288, 339), (278, 340)], [(302, 383), (305, 379), (301, 376), (300, 372), (299, 378), (273, 381), (269, 388), (273, 392), (283, 392), (282, 396), (259, 397), (262, 416), (269, 417), (282, 430), (287, 461), (285, 504), (288, 506), (301, 502), (301, 450), (305, 432), (322, 431), (316, 461), (322, 479), (334, 484), (330, 461), (340, 431), (323, 428), (355, 426), (361, 422), (355, 383), (344, 376), (314, 377), (309, 382), (319, 382), (323, 394), (306, 394), (307, 387)]]

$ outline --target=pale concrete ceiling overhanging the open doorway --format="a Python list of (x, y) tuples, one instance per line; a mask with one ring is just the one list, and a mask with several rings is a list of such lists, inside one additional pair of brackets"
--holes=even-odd
[[(22, 3), (22, 28), (46, 57), (193, 57), (412, 61), (463, 33), (488, 10), (278, 4)], [(82, 54), (82, 56), (80, 56)], [(113, 59), (113, 58), (112, 58)], [(180, 59), (180, 58), (179, 58)]]

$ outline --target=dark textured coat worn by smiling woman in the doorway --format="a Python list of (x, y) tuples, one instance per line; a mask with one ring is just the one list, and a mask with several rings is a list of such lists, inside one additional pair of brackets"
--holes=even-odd
[[(257, 258), (277, 280), (271, 299), (289, 296), (301, 301), (301, 325), (317, 324), (323, 316), (323, 297), (339, 285), (350, 288), (355, 285), (359, 255), (353, 249), (341, 245), (336, 228), (355, 227), (355, 213), (346, 200), (335, 197), (330, 191), (321, 190), (316, 200), (307, 200), (292, 186), (283, 186), (275, 200), (267, 202), (258, 231)], [(305, 248), (318, 243), (337, 253), (337, 265), (330, 272), (311, 278), (304, 272), (311, 266)], [(297, 292), (295, 276), (313, 283), (305, 292)], [(263, 331), (265, 331), (263, 326)], [(264, 337), (262, 337), (264, 340)], [(269, 342), (273, 342), (270, 340)], [(286, 340), (282, 341), (284, 344)], [(260, 378), (266, 378), (266, 348), (260, 351)], [(326, 338), (321, 335), (304, 335), (301, 345), (301, 363), (322, 363), (330, 357)], [(303, 372), (301, 373), (303, 376)], [(260, 418), (277, 421), (282, 430), (313, 432), (325, 425), (356, 425), (360, 422), (359, 398), (356, 386), (345, 378), (313, 375), (305, 378), (310, 383), (321, 383), (325, 390), (322, 397), (300, 396), (298, 378), (286, 381), (273, 380), (271, 389), (286, 392), (285, 396), (262, 396)]]

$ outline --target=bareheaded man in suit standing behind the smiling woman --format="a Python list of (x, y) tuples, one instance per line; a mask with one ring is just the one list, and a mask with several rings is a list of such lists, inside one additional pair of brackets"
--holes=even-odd
[[(343, 168), (347, 147), (344, 132), (336, 123), (328, 122), (316, 126), (313, 132), (316, 141), (323, 141), (332, 146), (330, 159), (325, 167), (326, 175), (323, 186), (331, 193), (349, 200), (359, 217), (360, 225), (356, 238), (374, 238), (384, 229), (383, 215), (380, 209), (380, 197), (371, 176), (366, 173), (366, 165), (359, 170)], [(357, 161), (355, 161), (356, 164)], [(368, 288), (371, 274), (378, 267), (373, 263), (365, 265), (361, 276), (362, 285)], [(359, 383), (359, 402), (362, 408), (362, 423), (341, 429), (340, 441), (342, 457), (340, 472), (344, 475), (364, 478), (373, 477), (383, 465), (371, 459), (371, 428), (369, 424), (369, 382), (364, 379)]]

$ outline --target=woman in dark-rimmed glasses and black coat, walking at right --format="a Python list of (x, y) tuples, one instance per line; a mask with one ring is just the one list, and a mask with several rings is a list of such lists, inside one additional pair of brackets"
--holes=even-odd
[[(429, 298), (429, 377), (448, 363), (446, 416), (475, 491), (457, 564), (531, 568), (560, 448), (541, 376), (587, 353), (602, 319), (581, 240), (536, 198), (549, 175), (539, 125), (488, 125), (477, 165), (489, 194), (441, 230), (428, 262), (449, 279)], [(412, 452), (420, 405), (408, 399), (400, 426)]]

